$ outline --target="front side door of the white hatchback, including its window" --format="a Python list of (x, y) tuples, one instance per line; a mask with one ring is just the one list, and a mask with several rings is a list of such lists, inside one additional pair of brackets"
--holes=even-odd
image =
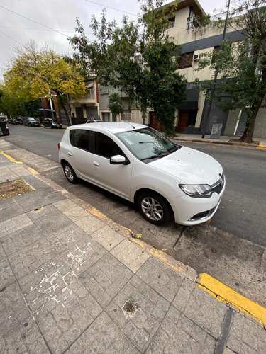
[[(129, 199), (133, 156), (123, 144), (120, 143), (121, 147), (118, 144), (111, 137), (101, 132), (94, 132), (94, 154), (92, 154), (94, 183), (122, 198)], [(131, 155), (130, 164), (110, 164), (110, 158), (114, 155), (122, 155), (127, 158)]]

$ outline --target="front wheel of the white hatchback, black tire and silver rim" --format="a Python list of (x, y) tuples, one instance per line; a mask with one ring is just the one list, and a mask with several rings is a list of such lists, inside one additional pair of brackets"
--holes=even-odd
[(166, 225), (170, 222), (171, 210), (164, 198), (152, 191), (138, 196), (138, 209), (143, 217), (156, 225)]

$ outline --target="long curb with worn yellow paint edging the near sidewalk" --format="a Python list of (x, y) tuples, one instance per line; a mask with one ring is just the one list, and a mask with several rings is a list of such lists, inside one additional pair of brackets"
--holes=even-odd
[[(7, 159), (11, 160), (14, 163), (21, 163), (20, 161), (16, 161), (11, 156), (5, 154), (2, 151), (1, 154), (6, 156)], [(153, 246), (150, 246), (144, 241), (138, 239), (138, 237), (131, 231), (131, 229), (123, 227), (122, 225), (117, 224), (116, 222), (113, 222), (113, 220), (111, 220), (109, 217), (97, 210), (95, 207), (92, 207), (92, 205), (89, 205), (82, 199), (77, 198), (72, 193), (67, 192), (65, 188), (62, 188), (60, 185), (50, 180), (50, 178), (45, 178), (34, 169), (27, 169), (33, 174), (33, 176), (40, 179), (40, 181), (43, 181), (44, 183), (50, 185), (50, 187), (52, 187), (54, 190), (60, 191), (61, 193), (66, 195), (67, 198), (69, 198), (73, 202), (76, 202), (77, 205), (83, 207), (85, 210), (94, 215), (94, 217), (97, 217), (98, 219), (101, 219), (101, 221), (103, 221), (104, 223), (109, 224), (109, 227), (111, 227), (111, 229), (123, 234), (123, 236), (125, 236), (129, 241), (138, 244), (138, 246), (140, 246), (142, 249), (157, 258), (158, 261), (164, 263), (165, 265), (168, 265), (174, 271), (179, 273), (182, 278), (194, 282), (200, 289), (208, 292), (218, 301), (227, 304), (234, 310), (238, 310), (240, 312), (243, 312), (243, 314), (250, 316), (254, 321), (257, 322), (257, 324), (259, 324), (262, 328), (266, 329), (265, 307), (262, 307), (259, 304), (248, 299), (247, 297), (240, 295), (238, 292), (235, 292), (235, 290), (224, 285), (222, 282), (216, 280), (207, 273), (201, 273), (200, 275), (198, 275), (196, 273), (196, 270), (189, 267), (189, 265), (185, 265), (184, 263), (175, 260), (174, 258), (172, 258), (172, 256), (167, 255), (167, 253), (157, 250)]]

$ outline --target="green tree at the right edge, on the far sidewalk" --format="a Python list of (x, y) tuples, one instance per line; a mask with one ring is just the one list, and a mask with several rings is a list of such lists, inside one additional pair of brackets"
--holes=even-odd
[[(219, 76), (214, 101), (223, 110), (241, 109), (248, 119), (240, 141), (253, 142), (257, 113), (263, 106), (266, 94), (266, 7), (265, 0), (240, 0), (231, 11), (228, 24), (245, 35), (243, 41), (232, 43), (224, 40), (219, 52), (204, 54), (199, 68), (211, 67)], [(215, 25), (223, 25), (222, 22)], [(207, 91), (209, 82), (201, 88)], [(230, 103), (221, 99), (221, 93), (229, 93)], [(207, 95), (208, 98), (208, 95)]]

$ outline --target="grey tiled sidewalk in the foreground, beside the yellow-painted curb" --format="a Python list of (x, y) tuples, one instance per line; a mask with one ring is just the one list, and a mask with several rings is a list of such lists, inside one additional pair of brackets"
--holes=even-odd
[(33, 188), (0, 201), (1, 353), (265, 353), (192, 268), (17, 162), (0, 154), (0, 182)]

